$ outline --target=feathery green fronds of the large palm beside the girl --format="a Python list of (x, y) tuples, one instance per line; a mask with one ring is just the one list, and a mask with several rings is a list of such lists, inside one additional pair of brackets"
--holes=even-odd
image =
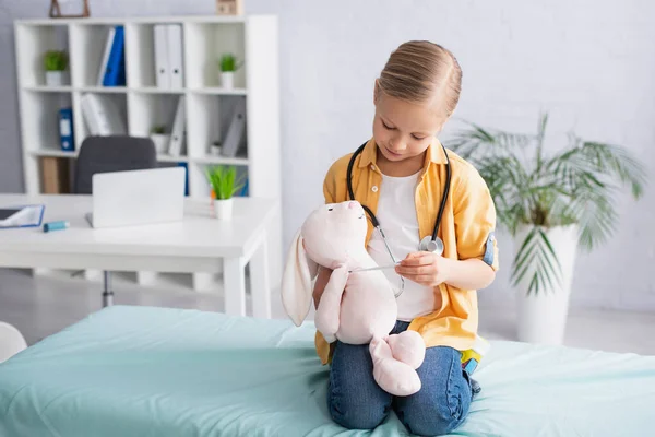
[(645, 167), (618, 145), (570, 134), (568, 147), (547, 154), (547, 114), (539, 117), (535, 134), (468, 123), (449, 143), (486, 180), (499, 224), (513, 236), (522, 226), (532, 228), (512, 271), (515, 282), (533, 272), (531, 293), (557, 283), (561, 276), (548, 228), (575, 224), (579, 245), (592, 250), (616, 231), (619, 217), (612, 199), (619, 189), (627, 186), (639, 199), (646, 185)]

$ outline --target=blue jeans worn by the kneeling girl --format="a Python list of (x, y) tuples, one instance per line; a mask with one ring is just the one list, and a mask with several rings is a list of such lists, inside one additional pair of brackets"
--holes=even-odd
[[(391, 333), (403, 332), (408, 326), (398, 321)], [(346, 428), (372, 429), (393, 409), (412, 434), (449, 434), (464, 422), (475, 389), (468, 374), (462, 369), (461, 359), (462, 353), (452, 347), (428, 347), (426, 358), (417, 369), (420, 391), (408, 397), (393, 397), (373, 379), (368, 344), (350, 345), (337, 341), (327, 390), (330, 414), (334, 422)]]

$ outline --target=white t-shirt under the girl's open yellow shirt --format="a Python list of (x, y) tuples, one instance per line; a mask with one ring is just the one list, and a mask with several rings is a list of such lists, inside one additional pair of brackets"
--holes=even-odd
[[(376, 216), (397, 261), (417, 251), (420, 243), (414, 200), (419, 173), (407, 177), (382, 175)], [(393, 262), (378, 231), (373, 231), (367, 249), (379, 265)], [(393, 269), (384, 269), (383, 272), (397, 294), (401, 276)], [(398, 320), (410, 321), (425, 316), (434, 310), (434, 290), (405, 279), (405, 288), (397, 298), (397, 305)]]

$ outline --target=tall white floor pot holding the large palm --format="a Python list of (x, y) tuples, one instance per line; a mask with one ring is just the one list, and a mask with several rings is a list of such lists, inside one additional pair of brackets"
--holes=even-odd
[[(519, 250), (529, 227), (519, 231), (514, 247)], [(552, 250), (561, 267), (561, 281), (553, 279), (552, 286), (546, 281), (538, 293), (528, 295), (529, 283), (535, 267), (528, 267), (527, 273), (514, 286), (517, 305), (516, 333), (519, 341), (539, 344), (560, 345), (564, 339), (571, 282), (577, 251), (577, 226), (561, 226), (546, 229)], [(555, 264), (557, 268), (557, 264)]]

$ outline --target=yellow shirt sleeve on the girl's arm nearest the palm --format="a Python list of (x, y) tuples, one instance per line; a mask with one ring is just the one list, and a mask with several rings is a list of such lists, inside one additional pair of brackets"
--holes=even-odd
[(485, 179), (469, 167), (454, 190), (455, 236), (458, 258), (477, 258), (499, 269), (496, 243), (496, 208)]

